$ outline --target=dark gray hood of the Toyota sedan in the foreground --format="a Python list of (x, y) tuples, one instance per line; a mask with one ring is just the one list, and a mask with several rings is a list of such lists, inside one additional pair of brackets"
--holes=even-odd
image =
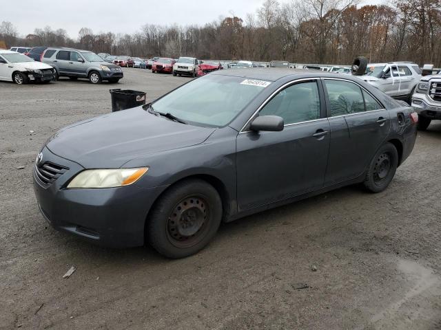
[(46, 146), (84, 168), (119, 168), (136, 157), (201, 144), (214, 131), (136, 107), (67, 126)]

